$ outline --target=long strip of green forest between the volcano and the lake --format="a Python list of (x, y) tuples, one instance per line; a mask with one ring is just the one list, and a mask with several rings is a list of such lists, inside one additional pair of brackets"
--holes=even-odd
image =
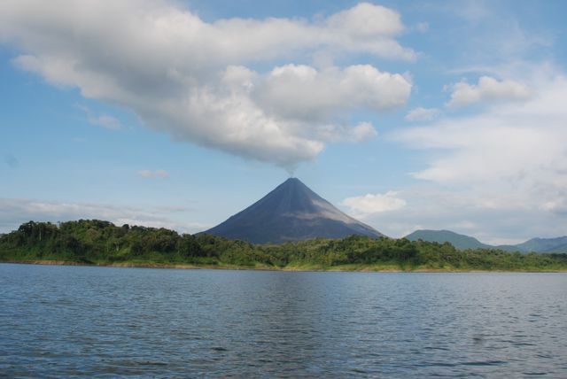
[(249, 244), (166, 228), (115, 226), (103, 220), (29, 221), (0, 236), (0, 261), (140, 267), (289, 270), (567, 271), (567, 254), (348, 236), (285, 244)]

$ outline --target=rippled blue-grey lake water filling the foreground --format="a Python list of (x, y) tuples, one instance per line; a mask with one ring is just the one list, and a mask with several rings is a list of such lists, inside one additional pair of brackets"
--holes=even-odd
[(0, 375), (567, 377), (567, 275), (0, 264)]

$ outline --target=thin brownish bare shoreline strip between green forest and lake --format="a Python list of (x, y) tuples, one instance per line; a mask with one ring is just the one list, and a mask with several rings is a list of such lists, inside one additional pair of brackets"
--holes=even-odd
[(33, 259), (33, 260), (6, 260), (0, 264), (42, 265), (42, 266), (84, 266), (84, 267), (124, 267), (124, 268), (166, 268), (182, 270), (250, 270), (250, 271), (282, 271), (282, 272), (344, 272), (344, 273), (439, 273), (439, 274), (466, 274), (466, 273), (567, 273), (565, 270), (478, 270), (478, 269), (443, 269), (443, 268), (416, 268), (403, 270), (392, 267), (328, 267), (328, 268), (302, 268), (302, 267), (245, 267), (231, 265), (191, 265), (167, 263), (82, 263), (66, 260)]

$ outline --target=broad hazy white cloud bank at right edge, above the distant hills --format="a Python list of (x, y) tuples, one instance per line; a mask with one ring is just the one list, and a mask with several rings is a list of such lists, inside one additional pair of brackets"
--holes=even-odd
[(476, 209), (566, 213), (567, 78), (548, 72), (532, 88), (522, 104), (398, 132), (409, 147), (434, 153), (414, 176), (451, 188)]

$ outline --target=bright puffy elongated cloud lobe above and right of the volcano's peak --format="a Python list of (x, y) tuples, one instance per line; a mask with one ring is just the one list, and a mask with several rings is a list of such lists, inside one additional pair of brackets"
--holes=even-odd
[(406, 104), (411, 83), (399, 73), (382, 73), (369, 65), (318, 72), (287, 65), (272, 70), (252, 91), (270, 114), (285, 119), (328, 120), (337, 110), (383, 110)]

